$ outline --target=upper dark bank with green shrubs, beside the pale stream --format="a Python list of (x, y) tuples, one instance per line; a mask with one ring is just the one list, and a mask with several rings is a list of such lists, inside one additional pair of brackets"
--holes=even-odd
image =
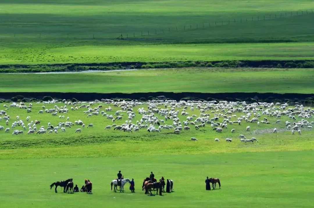
[(112, 63), (66, 63), (37, 65), (0, 65), (0, 73), (15, 72), (75, 72), (89, 70), (229, 67), (229, 68), (314, 68), (314, 61), (165, 61), (165, 62), (112, 62)]

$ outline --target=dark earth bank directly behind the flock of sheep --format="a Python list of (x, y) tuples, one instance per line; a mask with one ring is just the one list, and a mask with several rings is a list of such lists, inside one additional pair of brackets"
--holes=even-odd
[[(18, 98), (25, 100), (51, 100), (66, 99), (89, 101), (95, 99), (175, 99), (175, 100), (227, 100), (227, 101), (247, 101), (252, 102), (306, 102), (313, 103), (314, 94), (300, 93), (192, 93), (192, 92), (149, 92), (149, 93), (58, 93), (58, 92), (6, 92), (0, 93), (1, 99), (11, 100)], [(14, 101), (14, 99), (12, 99)], [(34, 102), (32, 101), (32, 102)]]

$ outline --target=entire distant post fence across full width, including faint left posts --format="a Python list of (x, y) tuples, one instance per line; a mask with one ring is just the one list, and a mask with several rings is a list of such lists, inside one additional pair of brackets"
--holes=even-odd
[[(246, 22), (254, 22), (254, 21), (264, 21), (264, 20), (271, 20), (271, 19), (279, 19), (279, 18), (285, 18), (285, 17), (293, 17), (293, 16), (303, 16), (306, 14), (313, 14), (314, 9), (304, 9), (304, 10), (298, 10), (298, 11), (290, 11), (290, 12), (279, 12), (275, 14), (265, 14), (265, 15), (255, 15), (251, 17), (246, 17), (246, 18), (232, 18), (232, 19), (225, 19), (225, 20), (216, 20), (216, 21), (200, 21), (199, 23), (195, 24), (184, 24), (184, 25), (172, 25), (164, 28), (159, 28), (159, 29), (143, 29), (142, 31), (137, 31), (137, 32), (123, 32), (119, 33), (119, 36), (117, 37), (104, 37), (100, 35), (101, 32), (95, 32), (91, 33), (88, 35), (78, 35), (76, 34), (71, 34), (71, 33), (45, 33), (45, 32), (39, 32), (36, 35), (20, 35), (17, 33), (5, 33), (3, 34), (6, 35), (1, 35), (0, 33), (0, 41), (5, 40), (6, 38), (46, 38), (46, 39), (86, 39), (86, 40), (91, 40), (91, 39), (105, 39), (105, 40), (112, 40), (112, 39), (127, 39), (127, 38), (141, 38), (141, 37), (147, 37), (151, 35), (160, 35), (160, 34), (169, 34), (172, 32), (183, 32), (183, 31), (189, 31), (189, 30), (197, 30), (197, 29), (205, 29), (205, 28), (210, 28), (214, 26), (219, 26), (219, 25), (230, 25), (230, 24), (242, 24)], [(12, 26), (14, 26), (14, 22), (11, 21)], [(11, 34), (11, 35), (10, 35)]]

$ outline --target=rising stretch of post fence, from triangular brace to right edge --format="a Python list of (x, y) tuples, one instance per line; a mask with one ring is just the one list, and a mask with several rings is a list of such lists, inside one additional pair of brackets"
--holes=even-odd
[(230, 25), (230, 24), (242, 24), (246, 22), (252, 22), (252, 21), (264, 21), (264, 20), (270, 20), (270, 19), (277, 19), (277, 18), (283, 18), (283, 17), (292, 17), (292, 16), (303, 16), (304, 14), (313, 14), (313, 9), (305, 9), (300, 11), (291, 11), (291, 12), (280, 12), (275, 14), (267, 14), (267, 15), (255, 15), (252, 17), (247, 18), (233, 18), (233, 19), (227, 19), (227, 20), (216, 20), (216, 21), (202, 21), (201, 24), (186, 24), (181, 26), (171, 26), (166, 27), (162, 29), (154, 29), (152, 32), (151, 29), (143, 29), (141, 33), (139, 32), (125, 32), (121, 33), (120, 36), (118, 36), (116, 39), (125, 39), (125, 38), (136, 38), (136, 37), (143, 37), (143, 36), (149, 36), (149, 35), (158, 35), (158, 34), (165, 34), (165, 33), (171, 33), (171, 32), (183, 32), (187, 30), (196, 30), (201, 28), (210, 28), (213, 26), (218, 25)]

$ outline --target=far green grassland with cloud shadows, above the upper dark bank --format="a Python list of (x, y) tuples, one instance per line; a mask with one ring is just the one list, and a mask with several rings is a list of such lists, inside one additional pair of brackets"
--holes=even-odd
[[(308, 0), (14, 0), (0, 7), (0, 64), (313, 57), (314, 3)], [(125, 40), (116, 40), (121, 33)]]

